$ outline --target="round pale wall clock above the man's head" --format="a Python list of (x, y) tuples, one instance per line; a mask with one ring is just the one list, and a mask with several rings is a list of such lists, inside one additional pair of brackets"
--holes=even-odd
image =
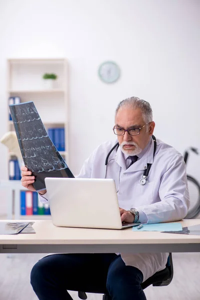
[(120, 76), (120, 69), (113, 61), (105, 61), (98, 68), (98, 75), (103, 82), (115, 82)]

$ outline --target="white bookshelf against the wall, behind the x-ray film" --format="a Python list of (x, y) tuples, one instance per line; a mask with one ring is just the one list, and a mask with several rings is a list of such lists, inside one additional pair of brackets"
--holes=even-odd
[[(44, 73), (55, 73), (56, 80), (52, 86), (46, 85), (42, 78)], [(62, 136), (59, 141), (60, 155), (69, 164), (68, 152), (68, 65), (65, 58), (10, 58), (7, 59), (7, 101), (18, 97), (20, 102), (33, 101), (39, 116), (49, 133), (53, 130), (54, 136)], [(15, 104), (15, 103), (13, 103)], [(8, 107), (8, 105), (7, 105)], [(9, 108), (7, 116), (9, 115)], [(14, 126), (9, 118), (7, 119), (7, 131), (13, 131)], [(59, 132), (58, 132), (59, 130)], [(62, 131), (61, 131), (62, 130)], [(49, 133), (50, 136), (50, 133)], [(53, 139), (51, 138), (53, 141)], [(63, 143), (64, 141), (64, 143)], [(55, 144), (55, 142), (53, 141)], [(13, 153), (7, 151), (8, 175), (10, 171), (10, 160)], [(13, 169), (13, 168), (12, 168)], [(15, 169), (15, 165), (14, 165)], [(12, 176), (9, 176), (13, 178)], [(18, 178), (15, 176), (15, 178)], [(9, 178), (8, 178), (9, 179)], [(50, 215), (20, 215), (21, 191), (26, 190), (22, 187), (20, 180), (7, 180), (4, 187), (9, 189), (7, 205), (7, 216), (12, 214), (17, 218), (48, 219)], [(14, 203), (14, 205), (13, 205)], [(44, 206), (45, 207), (45, 206)], [(27, 211), (27, 210), (26, 210)], [(46, 211), (46, 210), (45, 210)]]

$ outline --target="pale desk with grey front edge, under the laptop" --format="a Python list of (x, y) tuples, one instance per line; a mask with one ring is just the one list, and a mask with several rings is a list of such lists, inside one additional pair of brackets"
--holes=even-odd
[(200, 252), (200, 235), (55, 227), (51, 220), (35, 220), (33, 227), (36, 233), (0, 235), (0, 253)]

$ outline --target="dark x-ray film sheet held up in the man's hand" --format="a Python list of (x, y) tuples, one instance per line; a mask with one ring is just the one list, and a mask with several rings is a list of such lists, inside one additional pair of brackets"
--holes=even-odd
[(35, 176), (36, 191), (45, 177), (74, 177), (49, 138), (33, 102), (9, 105), (24, 165)]

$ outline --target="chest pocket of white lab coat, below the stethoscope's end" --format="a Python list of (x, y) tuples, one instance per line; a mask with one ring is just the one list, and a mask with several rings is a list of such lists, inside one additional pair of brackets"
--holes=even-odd
[(151, 204), (153, 202), (153, 188), (154, 181), (146, 182), (144, 185), (141, 185), (138, 182), (135, 185), (134, 198), (137, 199), (139, 206)]

